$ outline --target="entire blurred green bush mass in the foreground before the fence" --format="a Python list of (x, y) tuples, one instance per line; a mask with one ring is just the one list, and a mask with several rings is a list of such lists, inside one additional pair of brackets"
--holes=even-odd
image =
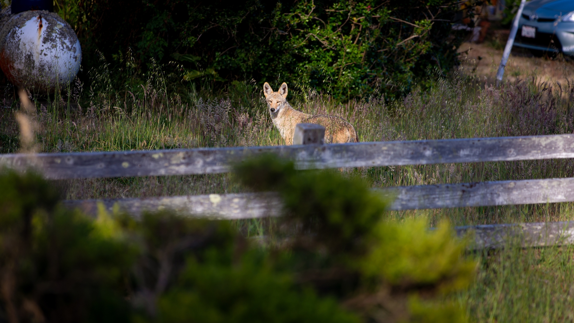
[(40, 176), (0, 174), (0, 321), (463, 322), (448, 301), (475, 263), (443, 224), (399, 224), (360, 179), (263, 156), (236, 167), (285, 201), (277, 237), (227, 221), (58, 205)]

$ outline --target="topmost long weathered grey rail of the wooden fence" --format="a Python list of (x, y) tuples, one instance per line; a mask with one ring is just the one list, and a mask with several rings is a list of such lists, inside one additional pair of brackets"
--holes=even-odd
[(259, 153), (300, 169), (574, 158), (574, 134), (272, 147), (0, 155), (0, 164), (36, 167), (49, 179), (215, 174)]

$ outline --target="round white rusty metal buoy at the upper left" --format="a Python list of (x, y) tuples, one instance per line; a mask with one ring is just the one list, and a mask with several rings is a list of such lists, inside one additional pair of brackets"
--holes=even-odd
[(15, 86), (52, 92), (76, 77), (80, 63), (80, 41), (56, 13), (0, 13), (0, 68)]

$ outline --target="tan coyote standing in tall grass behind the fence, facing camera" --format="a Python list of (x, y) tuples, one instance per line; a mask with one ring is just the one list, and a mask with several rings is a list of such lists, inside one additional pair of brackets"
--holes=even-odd
[(287, 84), (283, 83), (273, 92), (269, 83), (263, 84), (263, 94), (271, 113), (273, 125), (279, 129), (281, 137), (288, 145), (293, 144), (293, 133), (297, 124), (320, 124), (325, 127), (325, 144), (356, 143), (359, 141), (354, 126), (343, 118), (307, 114), (293, 109), (287, 102)]

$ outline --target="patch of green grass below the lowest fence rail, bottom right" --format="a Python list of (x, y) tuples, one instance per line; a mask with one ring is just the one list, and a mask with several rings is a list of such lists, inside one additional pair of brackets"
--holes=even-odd
[(476, 282), (459, 294), (476, 322), (574, 321), (574, 247), (483, 251)]

